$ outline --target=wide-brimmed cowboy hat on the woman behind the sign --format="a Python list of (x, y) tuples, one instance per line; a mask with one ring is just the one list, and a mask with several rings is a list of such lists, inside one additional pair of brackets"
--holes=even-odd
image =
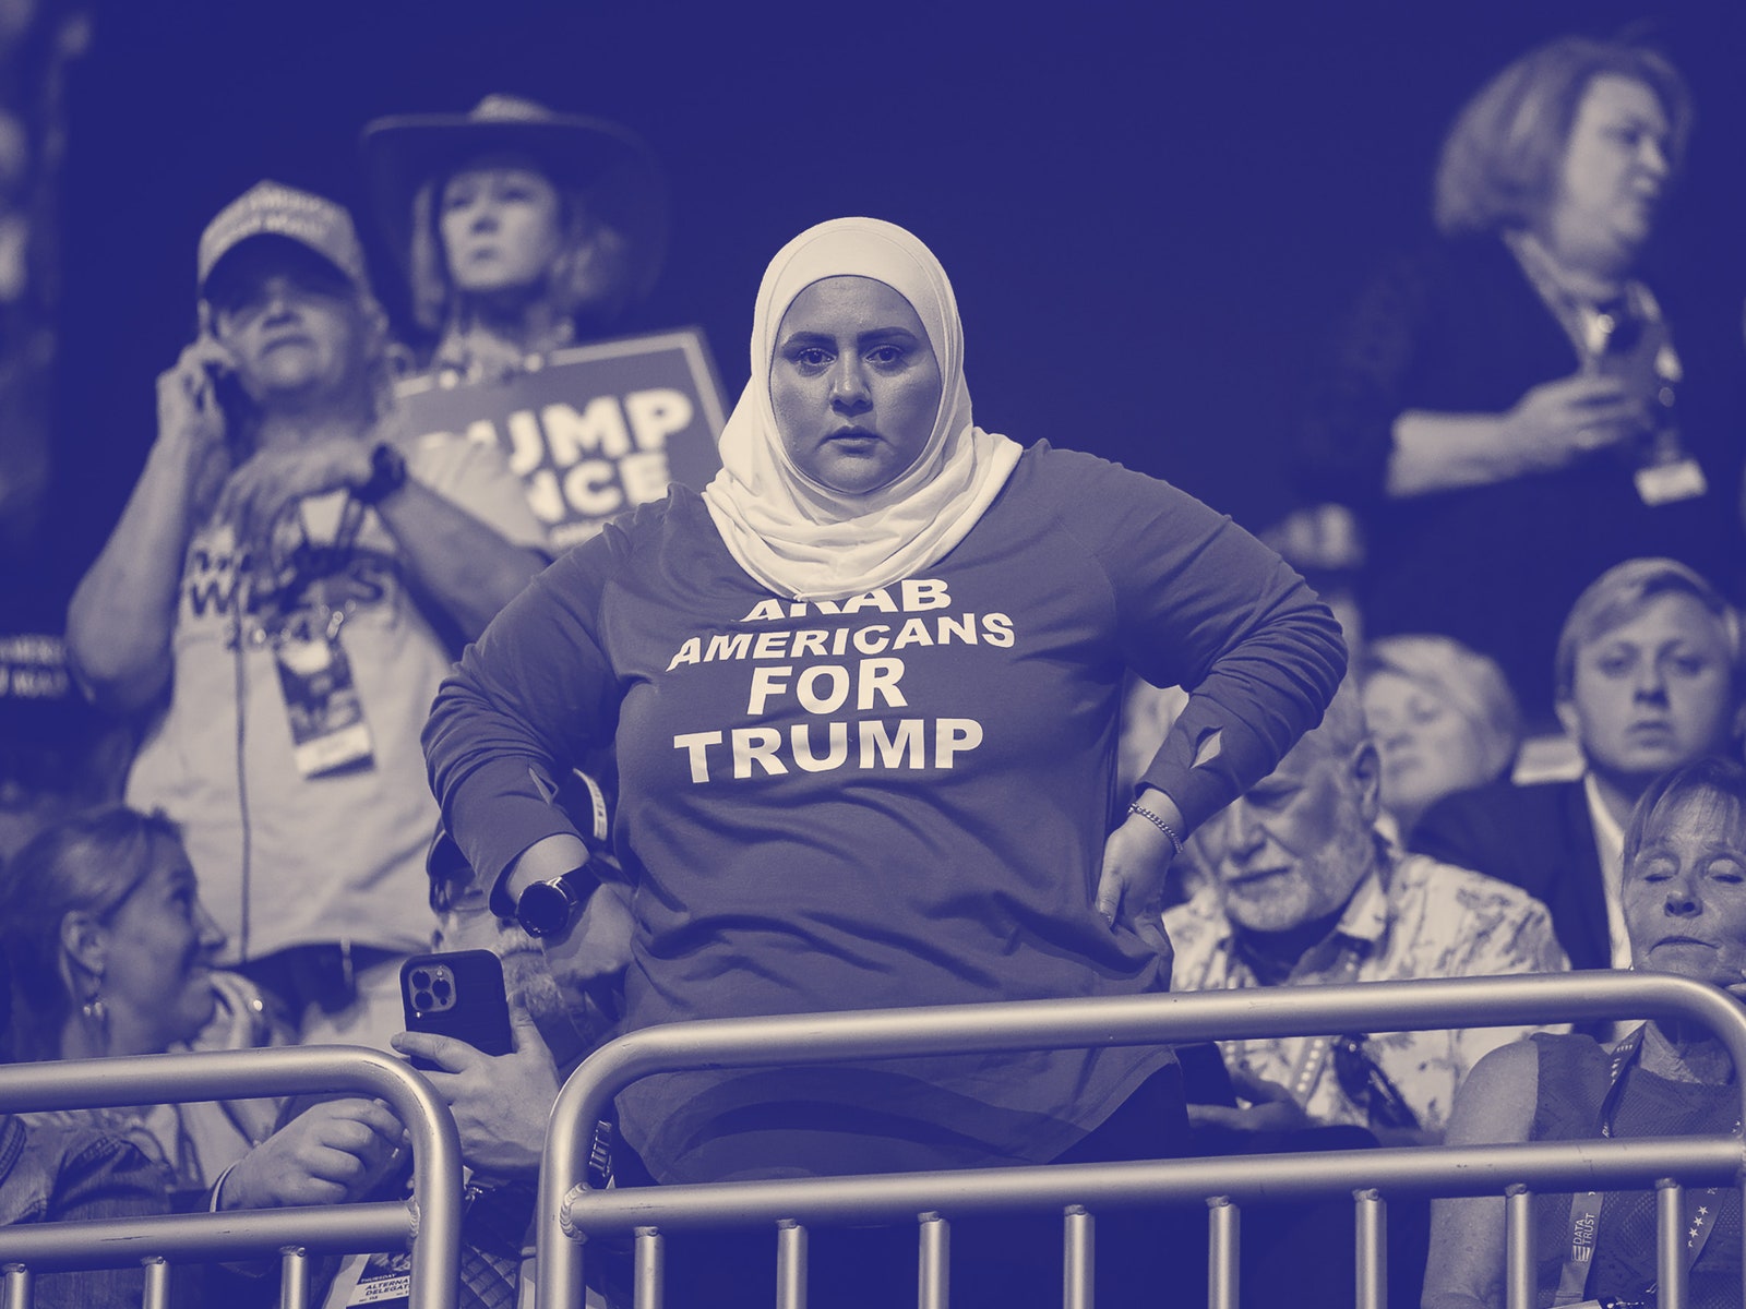
[(375, 218), (402, 269), (410, 265), (412, 201), (468, 159), (522, 154), (559, 185), (580, 187), (592, 215), (618, 232), (641, 300), (667, 251), (667, 180), (641, 136), (606, 119), (557, 113), (519, 96), (485, 96), (470, 113), (396, 113), (363, 129)]

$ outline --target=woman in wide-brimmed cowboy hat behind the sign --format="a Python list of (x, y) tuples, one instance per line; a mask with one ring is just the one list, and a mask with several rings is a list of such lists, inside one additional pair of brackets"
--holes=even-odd
[(363, 129), (375, 215), (454, 380), (510, 375), (644, 298), (667, 243), (648, 145), (602, 119), (485, 96)]

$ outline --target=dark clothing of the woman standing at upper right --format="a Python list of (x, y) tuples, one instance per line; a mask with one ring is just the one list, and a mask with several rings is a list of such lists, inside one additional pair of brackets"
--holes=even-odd
[[(1732, 590), (1741, 560), (1739, 442), (1685, 398), (1685, 445), (1709, 485), (1694, 499), (1645, 504), (1627, 449), (1482, 487), (1386, 496), (1404, 412), (1505, 414), (1580, 365), (1502, 241), (1437, 243), (1390, 260), (1358, 298), (1297, 452), (1303, 489), (1364, 524), (1365, 632), (1456, 637), (1500, 663), (1533, 717), (1550, 717), (1564, 614), (1603, 571), (1671, 555)], [(1694, 379), (1701, 398), (1704, 380)]]

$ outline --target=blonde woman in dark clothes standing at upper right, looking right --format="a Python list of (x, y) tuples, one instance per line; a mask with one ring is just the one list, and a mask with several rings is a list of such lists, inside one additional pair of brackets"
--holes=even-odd
[(1690, 120), (1641, 45), (1561, 37), (1493, 77), (1444, 141), (1437, 239), (1360, 297), (1303, 433), (1304, 490), (1362, 524), (1365, 634), (1496, 660), (1536, 731), (1592, 578), (1669, 555), (1732, 590), (1746, 557), (1739, 450), (1681, 414), (1643, 281)]

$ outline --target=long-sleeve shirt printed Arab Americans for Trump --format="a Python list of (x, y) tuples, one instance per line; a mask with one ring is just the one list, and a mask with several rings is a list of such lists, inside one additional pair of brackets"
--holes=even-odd
[[(529, 768), (616, 740), (630, 1028), (1131, 995), (1168, 976), (1093, 908), (1126, 805), (1126, 668), (1194, 691), (1145, 777), (1193, 827), (1320, 719), (1344, 646), (1303, 581), (1222, 515), (1037, 445), (924, 576), (838, 602), (765, 592), (676, 489), (503, 611), (445, 682), (426, 750), (450, 831), (494, 876), (566, 829)], [(637, 1084), (620, 1112), (662, 1180), (733, 1173), (711, 1143), (772, 1100), (849, 1105), (861, 1127), (882, 1115), (876, 1150), (819, 1147), (819, 1171), (1046, 1161), (1168, 1059), (688, 1073)], [(835, 1133), (836, 1108), (819, 1112), (836, 1141), (880, 1136)], [(758, 1148), (782, 1168), (773, 1143)]]

